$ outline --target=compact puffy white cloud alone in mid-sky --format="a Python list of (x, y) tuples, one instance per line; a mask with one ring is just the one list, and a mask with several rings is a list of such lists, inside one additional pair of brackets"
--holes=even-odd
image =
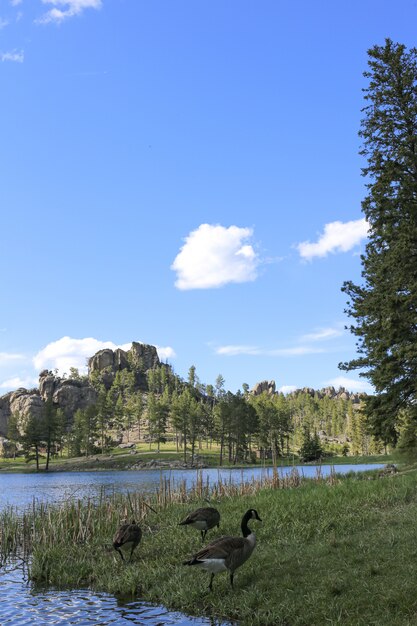
[(185, 239), (171, 269), (178, 289), (210, 289), (257, 278), (259, 259), (248, 243), (251, 228), (201, 224)]

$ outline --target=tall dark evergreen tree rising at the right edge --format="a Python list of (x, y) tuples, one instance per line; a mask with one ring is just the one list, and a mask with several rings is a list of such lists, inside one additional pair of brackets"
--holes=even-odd
[(343, 285), (359, 356), (340, 367), (363, 370), (376, 390), (365, 400), (372, 432), (395, 444), (400, 411), (417, 420), (417, 50), (387, 39), (368, 54), (360, 135), (369, 240), (363, 284)]

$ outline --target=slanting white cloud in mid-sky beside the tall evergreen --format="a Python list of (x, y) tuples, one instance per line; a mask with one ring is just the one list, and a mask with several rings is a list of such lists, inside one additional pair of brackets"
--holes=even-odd
[(303, 259), (325, 257), (329, 253), (347, 252), (368, 235), (368, 222), (365, 218), (350, 222), (330, 222), (324, 226), (324, 233), (315, 243), (303, 241), (296, 248)]

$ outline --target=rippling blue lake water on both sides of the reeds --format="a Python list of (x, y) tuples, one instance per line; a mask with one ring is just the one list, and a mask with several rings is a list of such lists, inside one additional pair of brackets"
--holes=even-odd
[[(377, 469), (381, 465), (337, 465), (338, 473)], [(297, 468), (305, 477), (317, 475), (316, 466)], [(292, 468), (280, 468), (280, 474)], [(331, 471), (330, 465), (320, 467), (321, 475)], [(263, 468), (204, 469), (203, 479), (214, 484), (241, 482), (268, 475)], [(271, 470), (269, 472), (272, 473)], [(106, 492), (150, 492), (158, 488), (161, 476), (178, 484), (186, 481), (191, 486), (197, 479), (195, 470), (138, 470), (124, 472), (71, 472), (51, 474), (1, 474), (0, 509), (13, 506), (19, 511), (37, 502), (59, 503), (68, 498), (96, 498)], [(10, 563), (0, 569), (0, 624), (1, 626), (232, 626), (213, 619), (194, 619), (182, 613), (168, 611), (141, 600), (121, 602), (114, 596), (88, 590), (42, 591), (33, 589), (25, 579), (19, 563)]]

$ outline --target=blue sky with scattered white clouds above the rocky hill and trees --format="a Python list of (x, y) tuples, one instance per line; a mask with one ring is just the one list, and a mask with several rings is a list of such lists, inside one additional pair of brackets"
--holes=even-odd
[(141, 341), (226, 388), (355, 355), (367, 50), (412, 0), (0, 0), (0, 394)]

